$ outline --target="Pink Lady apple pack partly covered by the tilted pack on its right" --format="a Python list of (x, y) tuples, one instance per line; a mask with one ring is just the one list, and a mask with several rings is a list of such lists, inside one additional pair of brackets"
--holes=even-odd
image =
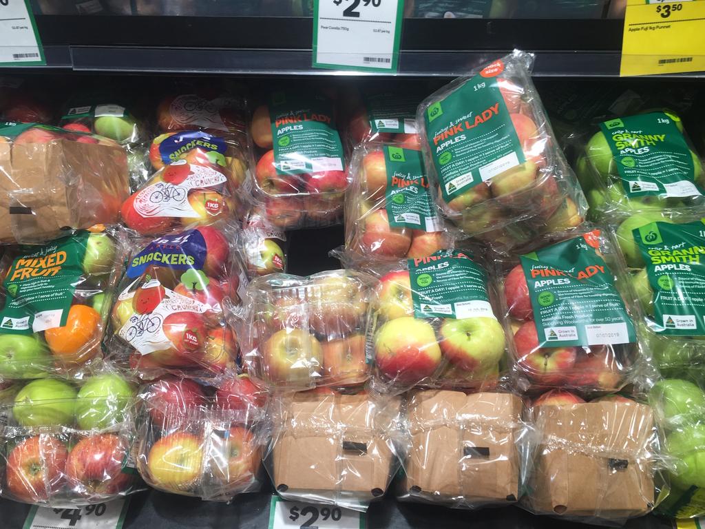
[(421, 152), (398, 144), (355, 147), (345, 195), (345, 250), (362, 262), (428, 257), (453, 248), (429, 193)]

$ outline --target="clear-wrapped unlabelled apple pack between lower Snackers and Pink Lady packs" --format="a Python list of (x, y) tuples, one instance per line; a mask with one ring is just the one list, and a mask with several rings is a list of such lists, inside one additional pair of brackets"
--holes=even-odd
[(350, 270), (253, 280), (243, 330), (247, 372), (272, 389), (365, 382), (365, 335), (375, 285), (372, 276)]

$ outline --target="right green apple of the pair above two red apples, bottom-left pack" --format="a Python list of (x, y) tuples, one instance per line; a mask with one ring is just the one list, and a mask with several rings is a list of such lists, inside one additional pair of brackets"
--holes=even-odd
[(123, 422), (133, 395), (133, 388), (120, 375), (105, 373), (89, 377), (76, 399), (78, 427), (94, 430)]

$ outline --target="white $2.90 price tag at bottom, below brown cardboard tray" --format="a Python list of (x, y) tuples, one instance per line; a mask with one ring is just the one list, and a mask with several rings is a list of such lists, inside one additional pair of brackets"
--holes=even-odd
[(305, 504), (271, 497), (269, 529), (364, 529), (365, 516), (359, 511), (335, 505)]

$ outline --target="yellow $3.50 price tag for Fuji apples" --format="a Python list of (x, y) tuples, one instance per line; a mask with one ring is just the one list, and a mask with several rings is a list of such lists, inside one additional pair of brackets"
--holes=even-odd
[(620, 75), (705, 71), (705, 0), (638, 5), (624, 18)]

